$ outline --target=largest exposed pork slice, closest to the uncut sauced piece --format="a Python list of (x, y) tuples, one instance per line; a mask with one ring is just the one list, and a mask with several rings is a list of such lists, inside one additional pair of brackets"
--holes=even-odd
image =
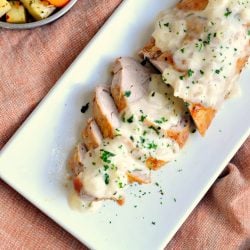
[(131, 57), (118, 58), (113, 65), (111, 93), (120, 111), (147, 93), (150, 70)]

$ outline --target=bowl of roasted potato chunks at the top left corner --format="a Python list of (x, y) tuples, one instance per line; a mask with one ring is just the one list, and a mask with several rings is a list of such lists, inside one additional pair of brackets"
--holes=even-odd
[(0, 28), (32, 29), (57, 20), (77, 0), (0, 0)]

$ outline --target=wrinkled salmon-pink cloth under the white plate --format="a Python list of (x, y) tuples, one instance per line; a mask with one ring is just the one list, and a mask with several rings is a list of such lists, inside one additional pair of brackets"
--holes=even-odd
[[(121, 0), (79, 0), (51, 25), (0, 30), (0, 148)], [(250, 138), (167, 249), (250, 248)], [(85, 249), (0, 181), (0, 249)]]

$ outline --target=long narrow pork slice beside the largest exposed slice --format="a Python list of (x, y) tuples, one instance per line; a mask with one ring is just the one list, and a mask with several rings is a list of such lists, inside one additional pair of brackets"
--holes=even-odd
[(103, 137), (113, 138), (116, 135), (115, 130), (120, 127), (120, 119), (107, 85), (100, 85), (95, 89), (93, 114)]

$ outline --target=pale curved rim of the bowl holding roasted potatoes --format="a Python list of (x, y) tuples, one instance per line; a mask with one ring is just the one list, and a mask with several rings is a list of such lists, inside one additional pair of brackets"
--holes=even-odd
[(45, 19), (39, 20), (39, 21), (35, 21), (35, 22), (31, 22), (31, 23), (20, 23), (20, 24), (7, 23), (7, 22), (0, 21), (0, 28), (21, 30), (21, 29), (33, 29), (36, 27), (43, 26), (45, 24), (49, 24), (51, 22), (54, 22), (55, 20), (57, 20), (61, 16), (63, 16), (66, 12), (68, 12), (76, 2), (77, 2), (77, 0), (70, 0), (63, 8), (61, 8), (55, 14), (52, 14), (51, 16), (49, 16)]

